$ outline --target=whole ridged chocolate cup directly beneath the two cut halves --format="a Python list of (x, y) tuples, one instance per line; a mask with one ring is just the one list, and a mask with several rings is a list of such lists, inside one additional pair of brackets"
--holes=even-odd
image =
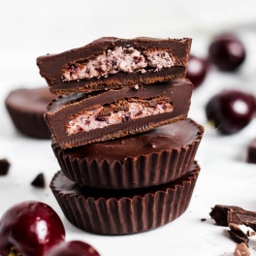
[(51, 146), (63, 174), (80, 185), (133, 189), (164, 184), (186, 174), (204, 128), (192, 119), (140, 135), (61, 149)]

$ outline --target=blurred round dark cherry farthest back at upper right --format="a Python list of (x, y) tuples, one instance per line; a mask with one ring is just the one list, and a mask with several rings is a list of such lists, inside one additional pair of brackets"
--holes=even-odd
[(209, 60), (222, 71), (235, 71), (245, 59), (245, 49), (232, 34), (217, 36), (208, 48)]

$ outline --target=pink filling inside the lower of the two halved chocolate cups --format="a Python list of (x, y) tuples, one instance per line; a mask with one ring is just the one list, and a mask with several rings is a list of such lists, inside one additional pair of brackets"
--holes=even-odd
[[(103, 106), (94, 110), (83, 111), (73, 116), (66, 125), (68, 135), (78, 134), (80, 132), (89, 132), (95, 129), (101, 129), (109, 125), (122, 123), (149, 115), (173, 112), (171, 103), (165, 100), (159, 100), (157, 104), (146, 106), (145, 101), (126, 102), (125, 110), (106, 112)], [(106, 112), (102, 114), (102, 112)]]

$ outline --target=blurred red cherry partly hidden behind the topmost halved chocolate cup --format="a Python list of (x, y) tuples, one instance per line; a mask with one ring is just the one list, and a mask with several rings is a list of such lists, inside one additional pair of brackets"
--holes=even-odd
[(202, 84), (207, 76), (207, 73), (207, 60), (191, 54), (188, 60), (186, 78), (192, 81), (194, 89)]

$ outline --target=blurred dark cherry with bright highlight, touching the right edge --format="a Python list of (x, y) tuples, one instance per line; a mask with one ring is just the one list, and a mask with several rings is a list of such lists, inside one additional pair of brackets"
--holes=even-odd
[(220, 133), (234, 134), (251, 121), (255, 108), (254, 96), (238, 90), (224, 90), (208, 101), (206, 113)]

